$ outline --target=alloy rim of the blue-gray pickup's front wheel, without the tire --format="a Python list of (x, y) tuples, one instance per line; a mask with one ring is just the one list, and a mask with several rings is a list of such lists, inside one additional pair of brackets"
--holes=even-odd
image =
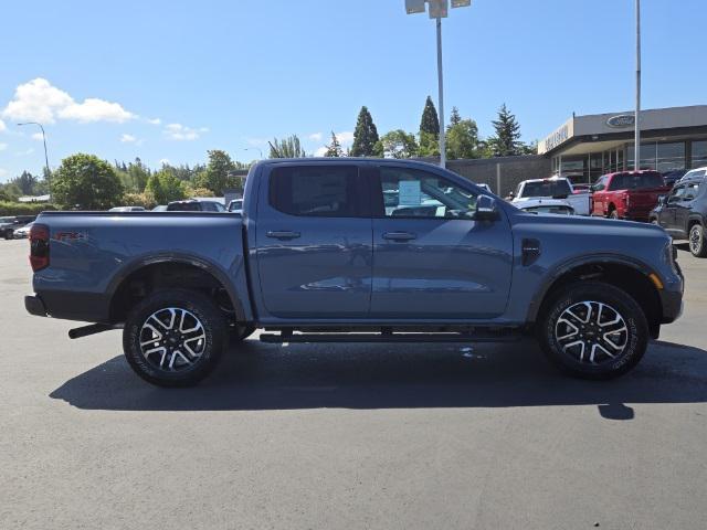
[(573, 360), (602, 364), (625, 352), (629, 328), (623, 316), (609, 304), (587, 300), (562, 311), (555, 325), (555, 339)]

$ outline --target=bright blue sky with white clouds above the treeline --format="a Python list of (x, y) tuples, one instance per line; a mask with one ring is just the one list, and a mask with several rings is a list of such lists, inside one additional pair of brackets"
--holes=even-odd
[[(704, 0), (643, 0), (644, 108), (707, 103)], [(633, 0), (473, 0), (444, 21), (447, 109), (481, 134), (504, 102), (527, 141), (572, 112), (633, 106)], [(404, 0), (3, 2), (0, 181), (72, 152), (201, 162), (258, 158), (297, 134), (350, 137), (361, 105), (382, 134), (436, 102), (434, 23)]]

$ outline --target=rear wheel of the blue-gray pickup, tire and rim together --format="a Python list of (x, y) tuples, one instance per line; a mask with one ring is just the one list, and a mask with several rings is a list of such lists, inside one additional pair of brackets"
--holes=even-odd
[[(151, 338), (155, 341), (144, 353), (140, 344)], [(158, 386), (197, 384), (215, 368), (226, 343), (223, 314), (208, 297), (192, 290), (152, 293), (133, 308), (123, 330), (123, 350), (130, 368)]]

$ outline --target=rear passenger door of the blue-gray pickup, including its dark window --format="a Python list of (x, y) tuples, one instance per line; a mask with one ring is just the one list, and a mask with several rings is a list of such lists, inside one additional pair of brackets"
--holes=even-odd
[(277, 318), (363, 318), (371, 294), (369, 187), (357, 165), (282, 163), (258, 192), (262, 301)]

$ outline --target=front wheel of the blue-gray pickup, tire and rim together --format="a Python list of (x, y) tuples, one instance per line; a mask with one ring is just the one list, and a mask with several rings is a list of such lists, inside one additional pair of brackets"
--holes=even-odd
[[(614, 314), (622, 320), (610, 326), (606, 322), (614, 319)], [(574, 320), (569, 315), (580, 318)], [(587, 322), (580, 325), (584, 317)], [(616, 332), (621, 327), (625, 332)], [(577, 333), (572, 335), (572, 328)], [(650, 330), (643, 309), (624, 290), (602, 282), (583, 282), (562, 287), (544, 305), (537, 336), (548, 359), (564, 373), (604, 380), (623, 375), (639, 363), (648, 346)], [(616, 346), (621, 344), (620, 350)]]

